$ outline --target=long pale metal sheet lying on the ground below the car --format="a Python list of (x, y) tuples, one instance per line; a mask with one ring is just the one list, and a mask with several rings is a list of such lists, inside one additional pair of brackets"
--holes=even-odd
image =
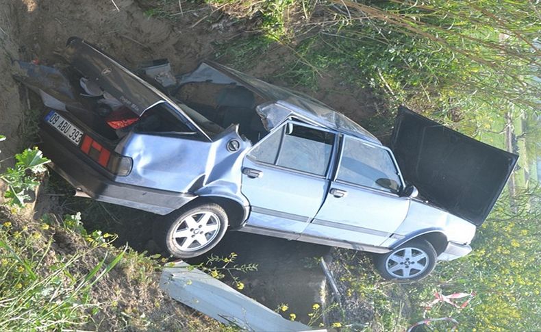
[[(310, 331), (184, 261), (164, 268), (160, 287), (175, 300), (224, 324), (246, 331)], [(326, 330), (318, 330), (326, 331)]]

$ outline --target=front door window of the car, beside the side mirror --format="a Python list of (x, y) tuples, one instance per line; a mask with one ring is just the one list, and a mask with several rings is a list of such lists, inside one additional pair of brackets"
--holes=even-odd
[(346, 137), (337, 179), (397, 194), (401, 181), (389, 151)]

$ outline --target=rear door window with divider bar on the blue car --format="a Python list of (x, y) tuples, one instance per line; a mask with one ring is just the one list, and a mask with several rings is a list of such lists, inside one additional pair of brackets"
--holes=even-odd
[(334, 138), (334, 133), (288, 123), (255, 146), (248, 156), (257, 162), (325, 175)]

